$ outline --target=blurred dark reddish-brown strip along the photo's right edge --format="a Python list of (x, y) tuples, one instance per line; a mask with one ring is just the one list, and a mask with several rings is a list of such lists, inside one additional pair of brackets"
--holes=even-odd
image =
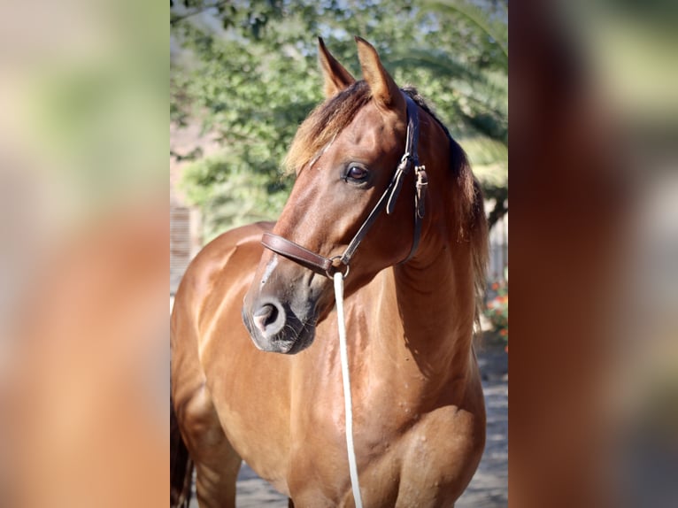
[(513, 7), (511, 503), (674, 506), (678, 4)]

